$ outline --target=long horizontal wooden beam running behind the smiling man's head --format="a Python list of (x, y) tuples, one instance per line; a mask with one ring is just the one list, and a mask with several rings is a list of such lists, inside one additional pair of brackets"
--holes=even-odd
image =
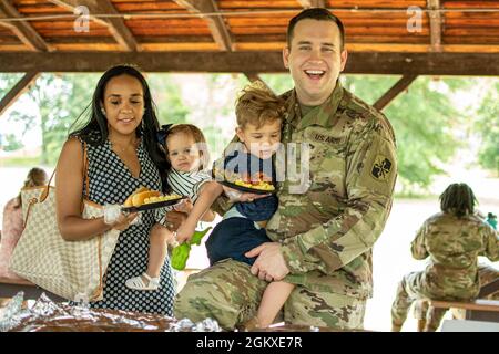
[[(353, 52), (345, 73), (499, 76), (499, 53)], [(132, 63), (145, 72), (282, 73), (282, 52), (0, 52), (0, 72), (103, 72)]]

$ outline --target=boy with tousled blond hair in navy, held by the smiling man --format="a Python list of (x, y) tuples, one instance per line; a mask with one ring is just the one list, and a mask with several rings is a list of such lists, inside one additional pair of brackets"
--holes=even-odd
[[(225, 152), (226, 156), (215, 163), (215, 177), (240, 175), (240, 179), (274, 183), (276, 171), (273, 156), (279, 147), (284, 113), (284, 100), (275, 96), (262, 83), (246, 86), (236, 102), (236, 135), (241, 143), (228, 154)], [(221, 171), (223, 176), (220, 176)], [(200, 217), (222, 192), (223, 187), (217, 181), (206, 184), (187, 220), (175, 235), (179, 242), (192, 237)], [(264, 228), (276, 209), (275, 195), (234, 204), (206, 241), (210, 263), (232, 258), (252, 266), (255, 258), (247, 258), (245, 253), (262, 243), (272, 242)], [(246, 324), (256, 327), (272, 324), (293, 289), (293, 284), (284, 281), (271, 282), (265, 289), (256, 317)]]

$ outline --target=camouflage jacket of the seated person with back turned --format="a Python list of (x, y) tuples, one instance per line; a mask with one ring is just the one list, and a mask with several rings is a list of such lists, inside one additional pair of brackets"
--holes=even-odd
[(425, 287), (435, 296), (478, 295), (478, 256), (499, 260), (498, 233), (478, 216), (439, 212), (425, 221), (411, 243), (416, 259), (428, 259)]

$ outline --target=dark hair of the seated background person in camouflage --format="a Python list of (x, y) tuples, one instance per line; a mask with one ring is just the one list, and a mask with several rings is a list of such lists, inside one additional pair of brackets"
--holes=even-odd
[(440, 209), (458, 218), (475, 212), (477, 198), (467, 184), (451, 184), (440, 196)]

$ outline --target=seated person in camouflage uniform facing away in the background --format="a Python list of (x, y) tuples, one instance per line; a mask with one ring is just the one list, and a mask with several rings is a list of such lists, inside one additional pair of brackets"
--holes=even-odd
[[(480, 285), (498, 279), (491, 268), (478, 267), (478, 256), (499, 260), (499, 239), (483, 219), (473, 214), (476, 199), (465, 184), (450, 185), (440, 196), (441, 212), (425, 221), (411, 243), (415, 259), (429, 257), (422, 272), (404, 277), (391, 306), (393, 331), (399, 331), (415, 300), (473, 299)], [(436, 331), (447, 310), (425, 306), (425, 331)], [(422, 316), (425, 314), (418, 314)]]

